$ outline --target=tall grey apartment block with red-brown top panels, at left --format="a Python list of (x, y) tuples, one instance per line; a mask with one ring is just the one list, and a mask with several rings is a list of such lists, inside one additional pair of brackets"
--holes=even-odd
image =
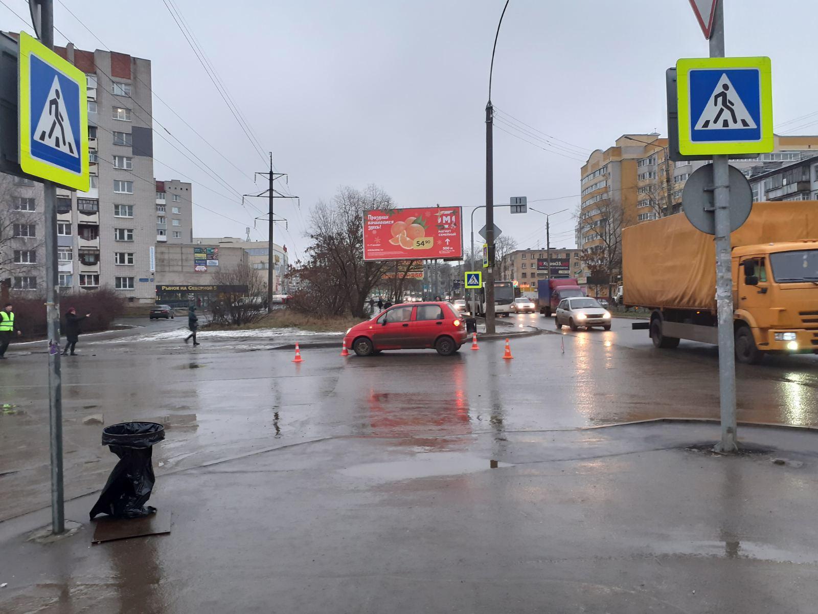
[[(59, 285), (65, 292), (106, 286), (128, 300), (152, 301), (152, 248), (189, 243), (193, 230), (191, 184), (154, 178), (151, 61), (71, 44), (55, 51), (86, 74), (91, 174), (88, 192), (57, 189)], [(42, 289), (43, 187), (10, 181), (0, 206), (24, 219), (12, 231), (24, 236), (14, 237), (8, 249), (20, 264), (36, 260), (27, 270), (11, 271), (13, 287)], [(166, 194), (170, 213), (163, 210)]]

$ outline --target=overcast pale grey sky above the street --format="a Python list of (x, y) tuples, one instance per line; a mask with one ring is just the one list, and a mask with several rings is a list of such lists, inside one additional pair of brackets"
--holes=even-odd
[[(265, 169), (163, 0), (63, 1), (107, 46), (150, 59), (155, 93), (233, 164), (250, 176)], [(27, 15), (25, 0), (4, 2)], [(263, 148), (272, 151), (276, 169), (290, 174), (290, 192), (301, 196), (300, 211), (294, 201), (276, 202), (289, 219), (286, 232), (283, 224), (276, 230), (276, 242), (293, 255), (303, 255), (307, 245), (309, 208), (340, 185), (376, 183), (398, 205), (460, 205), (466, 215), (483, 204), (488, 68), (504, 0), (175, 3)], [(78, 47), (102, 47), (55, 4), (56, 26)], [(818, 110), (814, 0), (726, 0), (725, 7), (727, 55), (772, 58), (776, 125)], [(5, 7), (0, 16), (5, 29), (22, 27)], [(65, 40), (57, 34), (56, 43)], [(498, 122), (495, 201), (528, 196), (542, 211), (568, 207), (552, 219), (552, 245), (573, 246), (578, 159), (622, 133), (665, 133), (664, 70), (679, 57), (707, 55), (687, 0), (511, 0), (497, 43), (492, 102), (561, 139), (552, 142), (564, 149), (534, 147), (501, 132), (511, 130)], [(154, 115), (236, 192), (263, 189), (156, 99)], [(811, 120), (818, 115), (783, 130)], [(196, 235), (241, 237), (253, 225), (258, 213), (208, 192), (203, 185), (227, 189), (162, 138), (155, 138), (155, 156), (157, 178), (191, 180), (197, 203), (237, 220), (195, 207)], [(562, 196), (569, 197), (533, 202)], [(265, 207), (258, 199), (255, 205)], [(521, 246), (544, 245), (542, 215), (500, 210), (496, 221)], [(252, 237), (266, 238), (266, 223)]]

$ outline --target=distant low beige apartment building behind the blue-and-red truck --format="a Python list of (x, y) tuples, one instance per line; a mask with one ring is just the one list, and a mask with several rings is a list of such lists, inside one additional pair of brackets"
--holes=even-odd
[(551, 278), (575, 278), (582, 270), (582, 250), (569, 247), (515, 250), (507, 254), (500, 264), (498, 279), (517, 280), (520, 291), (537, 291), (537, 282), (549, 276), (551, 254)]

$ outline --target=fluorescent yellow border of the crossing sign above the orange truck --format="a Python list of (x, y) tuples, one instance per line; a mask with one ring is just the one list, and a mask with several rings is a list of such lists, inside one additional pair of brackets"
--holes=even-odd
[[(690, 140), (690, 70), (757, 68), (761, 74), (761, 136), (758, 141), (694, 142)], [(775, 149), (772, 129), (772, 70), (769, 57), (694, 57), (676, 61), (676, 107), (682, 156), (769, 153)]]

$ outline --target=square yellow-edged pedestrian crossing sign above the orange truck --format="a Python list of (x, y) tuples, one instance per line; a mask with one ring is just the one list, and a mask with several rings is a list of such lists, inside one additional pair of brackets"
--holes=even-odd
[(712, 156), (772, 151), (770, 66), (769, 57), (677, 61), (679, 152)]

